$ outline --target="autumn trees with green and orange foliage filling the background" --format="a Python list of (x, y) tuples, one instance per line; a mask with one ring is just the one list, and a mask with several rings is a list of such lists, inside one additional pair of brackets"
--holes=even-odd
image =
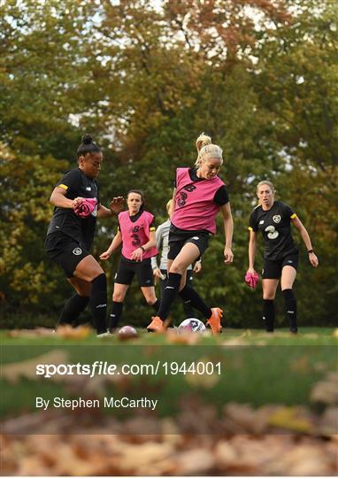
[[(196, 289), (211, 304), (225, 307), (229, 325), (260, 323), (260, 292), (252, 293), (243, 282), (246, 228), (257, 181), (274, 181), (278, 197), (299, 214), (319, 255), (319, 269), (312, 270), (295, 231), (301, 249), (300, 321), (334, 321), (335, 2), (4, 0), (1, 9), (4, 327), (18, 324), (13, 318), (22, 312), (26, 320), (31, 315), (35, 323), (53, 323), (70, 292), (45, 258), (43, 241), (52, 214), (50, 192), (62, 172), (75, 166), (74, 151), (87, 132), (104, 148), (103, 202), (142, 188), (157, 223), (165, 220), (175, 167), (196, 159), (196, 137), (205, 131), (222, 147), (220, 175), (234, 213), (234, 265), (223, 265), (219, 230)], [(96, 256), (115, 229), (115, 220), (99, 224)], [(105, 265), (110, 279), (117, 260)], [(136, 288), (126, 310), (128, 322), (140, 325), (150, 313)], [(181, 310), (175, 314), (180, 319)]]

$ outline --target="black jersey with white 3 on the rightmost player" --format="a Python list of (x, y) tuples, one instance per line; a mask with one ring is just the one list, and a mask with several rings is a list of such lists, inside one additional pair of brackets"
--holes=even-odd
[(298, 252), (291, 235), (291, 220), (294, 218), (295, 212), (280, 201), (275, 201), (268, 211), (259, 205), (251, 212), (249, 229), (261, 231), (265, 241), (265, 258), (280, 260)]

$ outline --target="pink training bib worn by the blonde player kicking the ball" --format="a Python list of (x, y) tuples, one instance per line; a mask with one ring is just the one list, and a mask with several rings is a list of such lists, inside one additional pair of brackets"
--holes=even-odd
[(176, 171), (173, 225), (187, 231), (205, 229), (216, 233), (216, 215), (219, 205), (213, 201), (224, 182), (215, 176), (211, 180), (191, 181), (188, 167)]

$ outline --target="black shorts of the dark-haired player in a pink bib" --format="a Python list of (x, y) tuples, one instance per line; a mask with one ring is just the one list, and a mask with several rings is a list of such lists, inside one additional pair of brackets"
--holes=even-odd
[(152, 273), (150, 258), (136, 262), (121, 256), (114, 282), (117, 284), (130, 285), (135, 274), (137, 275), (140, 287), (151, 287), (154, 285), (154, 275)]

